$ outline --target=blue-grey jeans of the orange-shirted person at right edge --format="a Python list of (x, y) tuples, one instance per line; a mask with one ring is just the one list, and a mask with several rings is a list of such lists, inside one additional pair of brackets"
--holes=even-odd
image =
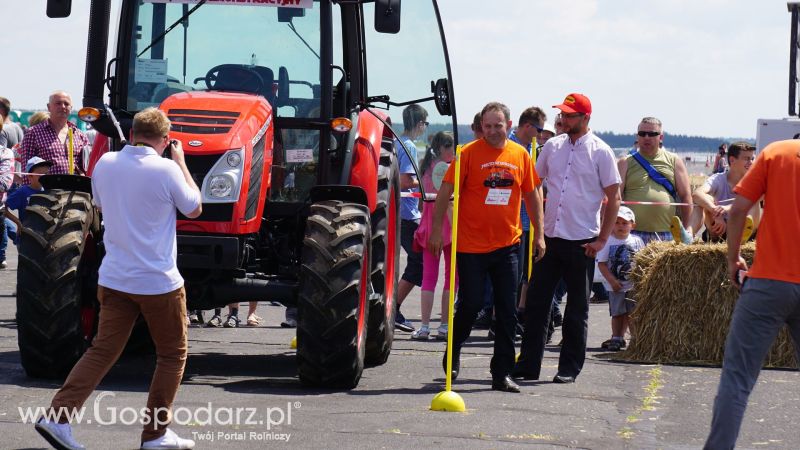
[(725, 341), (706, 449), (732, 449), (736, 444), (747, 399), (784, 323), (789, 325), (795, 356), (800, 361), (800, 283), (747, 279)]

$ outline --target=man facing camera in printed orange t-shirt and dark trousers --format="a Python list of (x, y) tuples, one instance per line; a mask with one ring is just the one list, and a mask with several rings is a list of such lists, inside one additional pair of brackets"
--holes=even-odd
[[(525, 200), (533, 218), (536, 260), (544, 256), (541, 185), (530, 155), (508, 140), (511, 113), (501, 103), (489, 103), (481, 111), (483, 138), (467, 144), (457, 164), (459, 217), (457, 256), (459, 303), (453, 319), (453, 373), (458, 376), (461, 345), (483, 306), (486, 279), (494, 290), (495, 327), (492, 356), (492, 389), (519, 392), (511, 379), (514, 367), (514, 330), (517, 325), (517, 267), (522, 235), (519, 210)], [(436, 198), (428, 249), (442, 250), (442, 220), (453, 193), (455, 166), (451, 164)], [(445, 355), (446, 356), (446, 355)], [(446, 359), (443, 361), (446, 363)]]

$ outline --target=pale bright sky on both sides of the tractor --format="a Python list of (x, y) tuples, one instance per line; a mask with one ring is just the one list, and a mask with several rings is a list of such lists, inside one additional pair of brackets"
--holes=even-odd
[[(405, 0), (421, 1), (421, 0)], [(44, 1), (3, 0), (0, 95), (44, 108), (65, 89), (80, 103), (88, 0), (68, 19)], [(592, 127), (754, 137), (756, 119), (787, 115), (789, 13), (777, 0), (440, 0), (459, 121), (505, 102), (517, 116), (582, 92)], [(10, 20), (9, 20), (10, 19)]]

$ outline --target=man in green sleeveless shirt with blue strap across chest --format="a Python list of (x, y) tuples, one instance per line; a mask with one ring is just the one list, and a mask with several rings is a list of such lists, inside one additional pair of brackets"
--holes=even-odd
[[(650, 241), (670, 241), (670, 229), (681, 231), (684, 243), (691, 241), (692, 229), (683, 229), (689, 224), (692, 215), (692, 191), (689, 186), (689, 172), (677, 154), (661, 146), (664, 140), (661, 121), (655, 117), (645, 117), (639, 122), (636, 133), (638, 151), (621, 158), (618, 162), (622, 178), (620, 192), (626, 202), (656, 202), (663, 205), (629, 204), (636, 215), (635, 236), (645, 244)], [(666, 203), (680, 205), (680, 222), (676, 209)], [(673, 222), (676, 222), (673, 224)]]

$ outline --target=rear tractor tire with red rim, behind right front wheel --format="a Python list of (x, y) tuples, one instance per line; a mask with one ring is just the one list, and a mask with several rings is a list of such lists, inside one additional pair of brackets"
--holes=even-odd
[(375, 300), (369, 305), (367, 355), (369, 365), (380, 365), (389, 358), (394, 340), (397, 280), (400, 264), (400, 171), (387, 140), (378, 166), (378, 202), (372, 213), (372, 287)]

